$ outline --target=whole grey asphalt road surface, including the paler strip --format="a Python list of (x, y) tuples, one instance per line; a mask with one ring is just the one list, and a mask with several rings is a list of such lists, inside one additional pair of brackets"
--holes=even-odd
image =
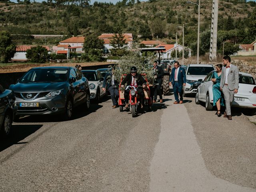
[(256, 125), (173, 100), (136, 118), (106, 100), (66, 122), (20, 119), (0, 141), (0, 191), (255, 192)]

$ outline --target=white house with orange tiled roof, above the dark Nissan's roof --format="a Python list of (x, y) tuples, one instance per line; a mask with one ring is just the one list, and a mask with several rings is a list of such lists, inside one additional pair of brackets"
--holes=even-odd
[[(68, 39), (61, 41), (57, 46), (56, 54), (60, 54), (59, 51), (64, 51), (64, 50), (68, 50), (68, 52), (84, 53), (84, 50), (83, 50), (84, 39), (85, 37), (70, 37)], [(62, 50), (63, 48), (62, 46), (67, 46), (67, 45), (69, 45), (69, 47), (64, 47), (64, 50)]]

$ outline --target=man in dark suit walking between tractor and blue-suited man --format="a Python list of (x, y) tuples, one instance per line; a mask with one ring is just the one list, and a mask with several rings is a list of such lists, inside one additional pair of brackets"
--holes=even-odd
[(154, 73), (154, 99), (153, 99), (153, 103), (156, 102), (157, 99), (157, 95), (159, 95), (160, 98), (160, 103), (163, 102), (163, 97), (162, 97), (162, 92), (161, 92), (161, 86), (162, 86), (162, 78), (164, 76), (164, 70), (160, 67), (157, 66), (157, 61), (154, 61), (153, 64), (153, 73)]

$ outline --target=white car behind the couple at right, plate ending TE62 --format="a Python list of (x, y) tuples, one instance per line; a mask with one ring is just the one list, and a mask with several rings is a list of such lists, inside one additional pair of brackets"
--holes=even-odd
[[(198, 86), (195, 102), (200, 104), (205, 102), (206, 110), (213, 108), (213, 93), (212, 93), (212, 73), (210, 72), (202, 84)], [(251, 74), (239, 72), (239, 88), (238, 93), (234, 94), (234, 107), (250, 108), (251, 114), (255, 113), (256, 109), (256, 84)]]

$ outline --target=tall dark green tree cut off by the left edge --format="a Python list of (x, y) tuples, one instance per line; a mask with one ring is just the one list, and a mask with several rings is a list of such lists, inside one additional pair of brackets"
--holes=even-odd
[(7, 63), (16, 53), (16, 45), (10, 33), (0, 31), (0, 63)]

